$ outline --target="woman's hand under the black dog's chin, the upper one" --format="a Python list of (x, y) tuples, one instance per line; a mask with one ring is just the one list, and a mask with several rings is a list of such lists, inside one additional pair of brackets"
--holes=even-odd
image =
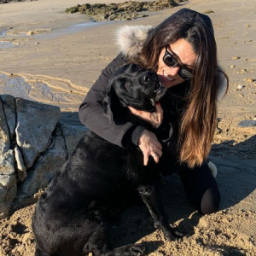
[(147, 121), (149, 124), (151, 124), (154, 128), (157, 128), (164, 116), (163, 108), (161, 108), (160, 102), (157, 102), (155, 105), (155, 112), (149, 113), (146, 111), (137, 110), (132, 107), (128, 107), (131, 110), (131, 113), (137, 115), (140, 119), (143, 119)]

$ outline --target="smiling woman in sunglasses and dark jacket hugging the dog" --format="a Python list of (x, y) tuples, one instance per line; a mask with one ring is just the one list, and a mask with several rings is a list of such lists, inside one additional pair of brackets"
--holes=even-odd
[[(119, 32), (119, 43), (122, 53), (102, 71), (79, 108), (81, 122), (120, 147), (138, 145), (144, 165), (151, 155), (163, 175), (178, 172), (196, 209), (202, 214), (216, 212), (220, 195), (207, 156), (216, 128), (217, 102), (227, 90), (228, 79), (218, 67), (212, 21), (207, 15), (181, 9), (155, 28), (125, 27)], [(140, 125), (109, 124), (102, 116), (108, 79), (126, 63), (154, 71), (167, 89), (155, 113), (130, 108), (157, 129), (169, 130), (162, 142)]]

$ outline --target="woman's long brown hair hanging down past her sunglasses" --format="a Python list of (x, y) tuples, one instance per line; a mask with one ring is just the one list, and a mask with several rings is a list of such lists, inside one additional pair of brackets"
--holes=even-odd
[(178, 138), (180, 161), (194, 167), (207, 160), (216, 129), (221, 84), (212, 21), (207, 15), (181, 9), (148, 34), (141, 53), (131, 61), (156, 72), (160, 51), (180, 38), (187, 40), (197, 55)]

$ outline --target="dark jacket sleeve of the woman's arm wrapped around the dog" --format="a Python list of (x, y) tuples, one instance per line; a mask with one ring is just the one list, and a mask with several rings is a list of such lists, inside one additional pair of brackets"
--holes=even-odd
[(111, 61), (102, 70), (100, 77), (92, 85), (84, 102), (79, 107), (79, 119), (85, 126), (108, 142), (123, 148), (130, 143), (137, 144), (137, 140), (144, 128), (130, 122), (115, 121), (114, 118), (113, 123), (109, 124), (108, 119), (103, 116), (102, 102), (106, 95), (110, 77), (118, 67), (126, 63), (125, 57), (121, 54)]

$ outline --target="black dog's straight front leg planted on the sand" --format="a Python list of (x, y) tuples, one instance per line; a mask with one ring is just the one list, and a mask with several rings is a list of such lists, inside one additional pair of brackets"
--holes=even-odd
[(160, 203), (160, 196), (158, 193), (158, 186), (154, 185), (143, 185), (138, 189), (139, 194), (142, 196), (144, 203), (148, 207), (148, 210), (154, 218), (154, 227), (160, 228), (167, 240), (172, 241), (177, 236), (173, 232), (170, 224), (168, 224), (166, 219), (166, 214)]

